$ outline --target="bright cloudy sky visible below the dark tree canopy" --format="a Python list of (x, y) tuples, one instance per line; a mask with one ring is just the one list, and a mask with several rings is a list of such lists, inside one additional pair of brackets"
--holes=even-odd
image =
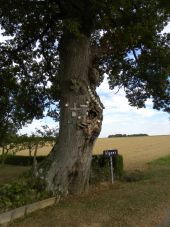
[[(170, 24), (164, 29), (164, 32), (170, 33)], [(0, 35), (0, 42), (4, 38)], [(117, 94), (117, 90), (109, 90), (107, 76), (97, 92), (103, 102), (104, 119), (100, 137), (107, 137), (111, 134), (136, 134), (146, 133), (149, 135), (170, 135), (169, 115), (162, 111), (152, 109), (152, 102), (146, 102), (146, 108), (137, 109), (128, 104), (123, 90)], [(28, 133), (35, 131), (35, 128), (41, 128), (41, 125), (47, 124), (50, 128), (57, 126), (52, 119), (45, 118), (42, 120), (34, 120), (32, 124), (20, 130), (20, 133)]]

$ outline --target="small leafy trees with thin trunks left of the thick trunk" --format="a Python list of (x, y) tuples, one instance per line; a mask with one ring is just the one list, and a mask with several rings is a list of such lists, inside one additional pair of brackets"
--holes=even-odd
[[(28, 150), (28, 156), (33, 157), (33, 168), (37, 168), (37, 152), (39, 148), (46, 145), (54, 146), (58, 140), (58, 129), (49, 128), (47, 125), (41, 126), (42, 130), (36, 129), (32, 135), (18, 135), (15, 127), (7, 130), (5, 134), (0, 128), (0, 164), (4, 164), (8, 155), (15, 155), (19, 151)], [(8, 129), (10, 129), (8, 125)], [(1, 136), (2, 135), (2, 136)]]

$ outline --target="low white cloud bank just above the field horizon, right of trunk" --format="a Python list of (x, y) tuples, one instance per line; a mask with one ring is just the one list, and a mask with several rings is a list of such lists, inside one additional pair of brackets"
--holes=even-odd
[(154, 119), (152, 117), (139, 117), (134, 114), (115, 114), (113, 112), (107, 117), (105, 116), (100, 137), (119, 133), (166, 135), (170, 134), (170, 122), (166, 115)]

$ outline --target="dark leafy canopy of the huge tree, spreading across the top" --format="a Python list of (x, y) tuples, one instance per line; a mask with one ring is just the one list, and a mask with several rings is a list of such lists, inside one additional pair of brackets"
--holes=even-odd
[[(65, 30), (90, 37), (93, 65), (131, 105), (170, 111), (170, 3), (159, 0), (2, 0), (0, 106), (19, 122), (41, 118), (60, 100), (59, 51)], [(55, 112), (55, 111), (54, 111)]]

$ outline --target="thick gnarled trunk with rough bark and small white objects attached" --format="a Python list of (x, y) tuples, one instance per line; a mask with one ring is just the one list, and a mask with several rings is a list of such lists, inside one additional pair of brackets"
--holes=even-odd
[(88, 189), (92, 148), (98, 137), (103, 105), (95, 91), (98, 73), (92, 68), (89, 38), (63, 36), (60, 46), (59, 142), (39, 166), (37, 175), (53, 194)]

